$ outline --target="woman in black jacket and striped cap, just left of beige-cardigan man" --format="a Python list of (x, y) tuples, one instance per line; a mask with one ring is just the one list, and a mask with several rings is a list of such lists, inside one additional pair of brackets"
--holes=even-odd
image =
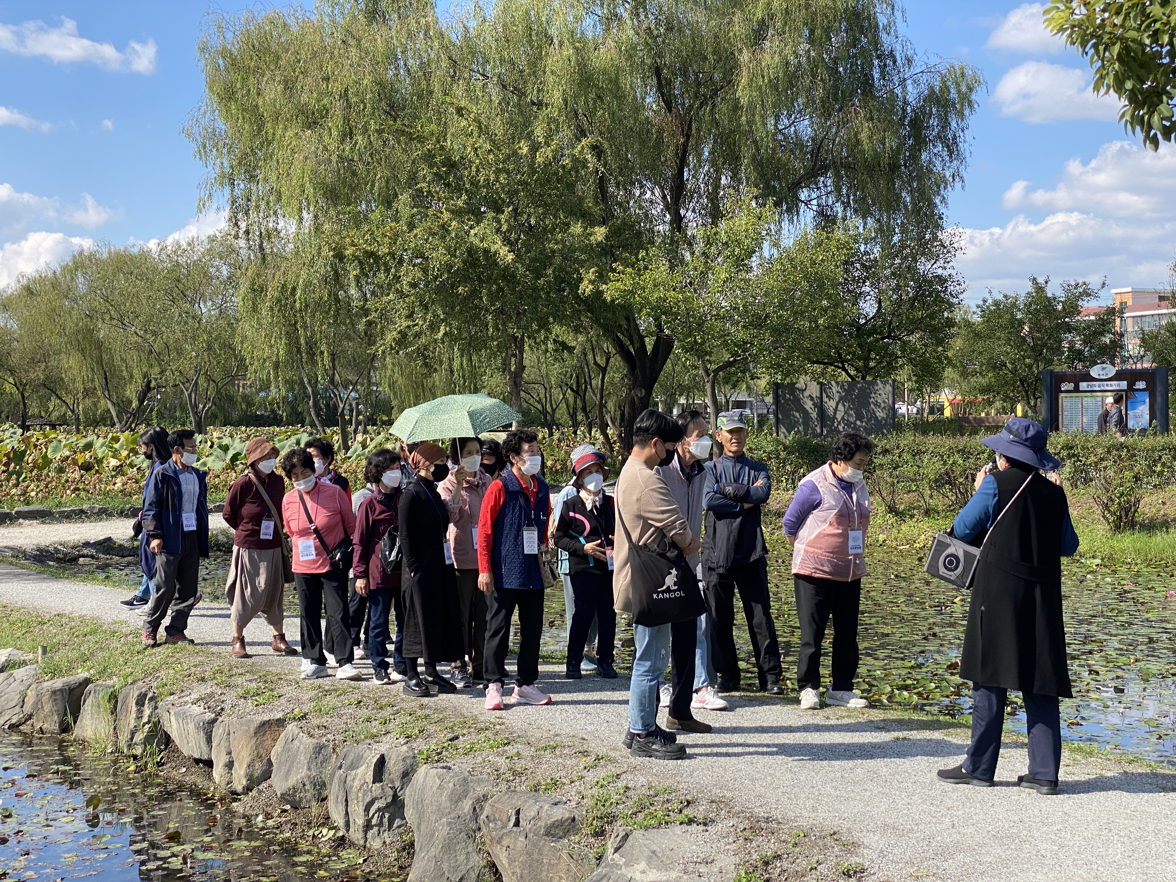
[(580, 680), (583, 674), (584, 640), (596, 619), (596, 673), (616, 676), (613, 667), (616, 610), (613, 608), (613, 539), (616, 515), (613, 497), (604, 493), (608, 467), (604, 454), (592, 450), (572, 467), (576, 495), (563, 501), (553, 541), (568, 555), (568, 579), (575, 609), (568, 629), (568, 659), (563, 676)]

